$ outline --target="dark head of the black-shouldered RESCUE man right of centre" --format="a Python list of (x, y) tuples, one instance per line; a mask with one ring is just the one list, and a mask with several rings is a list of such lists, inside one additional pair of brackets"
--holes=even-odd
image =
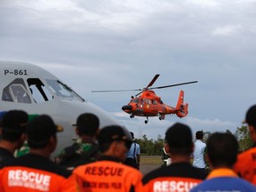
[(190, 156), (194, 149), (192, 132), (188, 125), (176, 123), (165, 132), (164, 148), (168, 154)]

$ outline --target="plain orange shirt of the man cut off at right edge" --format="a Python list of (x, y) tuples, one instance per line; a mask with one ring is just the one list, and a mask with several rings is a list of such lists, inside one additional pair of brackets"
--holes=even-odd
[(234, 171), (244, 180), (256, 185), (256, 147), (238, 155)]

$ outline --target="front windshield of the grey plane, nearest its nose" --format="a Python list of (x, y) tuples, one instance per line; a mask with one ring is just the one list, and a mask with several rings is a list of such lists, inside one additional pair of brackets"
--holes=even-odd
[(84, 101), (84, 99), (74, 92), (70, 87), (68, 87), (67, 84), (63, 84), (59, 80), (49, 79), (47, 79), (46, 82), (52, 89), (52, 92), (55, 92), (60, 99)]

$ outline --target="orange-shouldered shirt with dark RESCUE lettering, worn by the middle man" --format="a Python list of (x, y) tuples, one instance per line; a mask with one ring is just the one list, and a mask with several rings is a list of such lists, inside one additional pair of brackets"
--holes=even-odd
[(73, 175), (81, 192), (137, 191), (142, 179), (140, 171), (109, 160), (81, 165), (73, 171)]

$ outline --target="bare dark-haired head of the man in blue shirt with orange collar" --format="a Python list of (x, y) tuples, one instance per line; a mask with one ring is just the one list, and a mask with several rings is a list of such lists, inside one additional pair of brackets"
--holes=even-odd
[(206, 142), (207, 156), (212, 167), (232, 167), (236, 163), (238, 142), (236, 137), (228, 132), (215, 132)]

